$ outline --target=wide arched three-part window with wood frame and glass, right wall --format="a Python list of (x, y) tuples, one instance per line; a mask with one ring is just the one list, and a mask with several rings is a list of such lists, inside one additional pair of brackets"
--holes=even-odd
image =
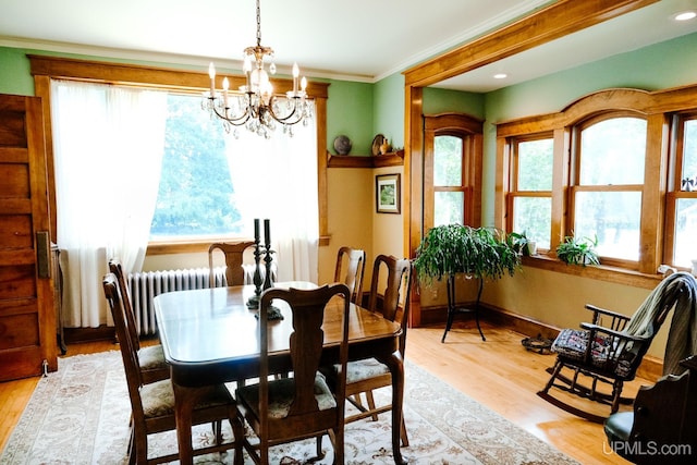
[(550, 231), (540, 257), (549, 259), (530, 262), (557, 271), (568, 268), (550, 259), (571, 235), (597, 238), (601, 267), (589, 272), (609, 281), (655, 286), (660, 265), (689, 269), (696, 94), (697, 86), (602, 90), (560, 112), (497, 124), (494, 225), (526, 232), (540, 248), (538, 231)]

